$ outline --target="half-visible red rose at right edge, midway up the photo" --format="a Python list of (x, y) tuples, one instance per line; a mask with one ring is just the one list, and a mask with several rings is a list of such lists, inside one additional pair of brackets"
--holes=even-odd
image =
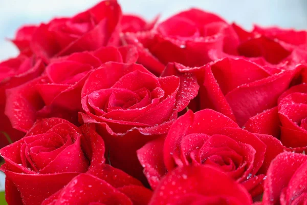
[(288, 148), (306, 149), (306, 96), (306, 84), (291, 87), (279, 97), (277, 107), (250, 118), (245, 125), (246, 129), (271, 134)]

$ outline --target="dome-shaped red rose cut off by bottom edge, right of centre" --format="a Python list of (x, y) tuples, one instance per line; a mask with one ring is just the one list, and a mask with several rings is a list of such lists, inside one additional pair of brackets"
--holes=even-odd
[(252, 204), (245, 188), (210, 166), (185, 166), (168, 173), (149, 202), (155, 204)]

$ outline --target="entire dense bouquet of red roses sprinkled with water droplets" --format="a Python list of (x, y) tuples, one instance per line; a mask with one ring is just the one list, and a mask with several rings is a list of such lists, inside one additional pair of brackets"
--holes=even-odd
[(8, 204), (307, 204), (306, 31), (106, 0), (11, 42)]

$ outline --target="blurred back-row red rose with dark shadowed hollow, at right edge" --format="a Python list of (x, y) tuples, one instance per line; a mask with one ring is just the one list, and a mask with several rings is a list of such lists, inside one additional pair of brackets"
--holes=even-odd
[(209, 56), (212, 60), (240, 56), (259, 65), (295, 66), (307, 59), (304, 31), (275, 27), (264, 29), (255, 26), (253, 31), (248, 32), (235, 24), (232, 24), (231, 27), (239, 43), (236, 47), (230, 44), (233, 48), (231, 53), (225, 50), (211, 50)]

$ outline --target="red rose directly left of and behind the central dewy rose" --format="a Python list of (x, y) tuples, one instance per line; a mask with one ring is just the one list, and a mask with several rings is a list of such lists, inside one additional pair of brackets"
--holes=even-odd
[(89, 74), (107, 61), (135, 63), (137, 58), (136, 49), (126, 46), (102, 47), (53, 59), (40, 77), (7, 90), (6, 115), (12, 126), (23, 132), (37, 118), (60, 117), (76, 124), (82, 109), (81, 89)]

